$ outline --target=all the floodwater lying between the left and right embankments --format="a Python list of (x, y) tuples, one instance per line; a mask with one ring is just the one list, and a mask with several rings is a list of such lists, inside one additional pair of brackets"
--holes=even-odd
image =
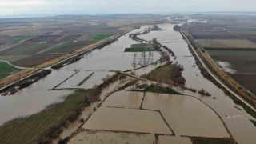
[[(134, 143), (154, 143), (156, 141), (154, 134), (176, 134), (176, 136), (189, 135), (214, 138), (234, 137), (238, 143), (254, 144), (256, 142), (256, 128), (250, 122), (250, 119), (254, 118), (247, 114), (241, 106), (236, 105), (221, 89), (203, 78), (198, 66), (195, 65), (194, 57), (190, 54), (187, 43), (182, 39), (179, 32), (173, 30), (174, 25), (162, 24), (158, 26), (162, 28), (162, 31), (151, 31), (149, 34), (139, 36), (139, 38), (148, 41), (157, 38), (158, 42), (174, 51), (177, 58), (171, 57), (171, 59), (184, 66), (185, 70), (182, 72), (182, 76), (186, 78), (186, 87), (196, 90), (204, 89), (212, 96), (205, 97), (198, 93), (184, 91), (184, 94), (202, 100), (200, 102), (196, 98), (186, 96), (144, 95), (143, 93), (126, 91), (114, 93), (106, 98), (106, 101), (95, 112), (94, 107), (97, 106), (97, 102), (82, 111), (81, 118), (90, 118), (82, 126), (84, 131), (74, 135), (70, 143), (82, 141), (88, 143), (101, 143), (103, 141), (106, 141), (106, 143), (126, 143), (128, 139), (129, 142), (132, 140)], [(143, 26), (129, 34), (137, 33), (147, 27)], [(90, 54), (86, 54), (78, 62), (60, 70), (53, 70), (46, 78), (18, 91), (14, 95), (0, 96), (0, 125), (13, 118), (37, 113), (54, 102), (61, 102), (66, 95), (73, 91), (58, 89), (91, 88), (100, 84), (102, 78), (106, 78), (106, 75), (114, 74), (109, 70), (133, 70), (134, 62), (137, 67), (140, 67), (143, 62), (146, 64), (147, 62), (158, 61), (160, 58), (158, 52), (146, 53), (150, 55), (150, 58), (146, 57), (149, 59), (139, 58), (138, 56), (142, 53), (124, 52), (126, 47), (138, 44), (138, 42), (129, 38), (129, 34), (118, 38), (118, 41), (100, 50), (94, 50)], [(146, 74), (157, 66), (159, 65), (135, 70), (135, 74)], [(94, 74), (78, 86), (92, 72)], [(103, 90), (101, 100), (110, 91), (120, 86), (120, 83), (125, 82), (114, 82), (107, 88), (108, 90)], [(56, 87), (56, 90), (51, 90), (54, 87)], [(142, 110), (141, 108), (150, 110)], [(225, 122), (231, 135), (228, 134), (218, 116)], [(66, 138), (77, 130), (79, 125), (81, 123), (77, 122), (74, 126), (70, 126), (70, 129), (63, 130), (61, 138)], [(122, 131), (122, 133), (116, 133), (115, 131)], [(128, 134), (127, 132), (135, 133)], [(188, 138), (167, 138), (166, 135), (158, 137), (160, 143), (190, 143)]]

